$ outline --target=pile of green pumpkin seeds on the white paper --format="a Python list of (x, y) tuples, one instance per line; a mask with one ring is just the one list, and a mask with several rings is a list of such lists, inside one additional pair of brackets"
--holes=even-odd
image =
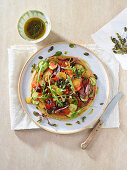
[[(124, 27), (124, 32), (127, 32), (127, 27)], [(112, 51), (115, 54), (127, 54), (127, 39), (124, 37), (122, 38), (119, 33), (116, 33), (117, 38), (110, 37), (112, 42), (115, 44), (112, 48)]]

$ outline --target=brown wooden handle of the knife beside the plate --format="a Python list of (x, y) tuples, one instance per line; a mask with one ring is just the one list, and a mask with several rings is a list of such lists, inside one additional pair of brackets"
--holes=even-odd
[(96, 124), (96, 126), (92, 129), (92, 131), (88, 135), (88, 137), (81, 144), (81, 148), (83, 150), (87, 148), (87, 146), (90, 144), (90, 142), (92, 141), (92, 139), (94, 138), (94, 136), (96, 135), (96, 133), (98, 132), (98, 130), (101, 128), (102, 125), (103, 125), (103, 122), (101, 120), (99, 120), (98, 123)]

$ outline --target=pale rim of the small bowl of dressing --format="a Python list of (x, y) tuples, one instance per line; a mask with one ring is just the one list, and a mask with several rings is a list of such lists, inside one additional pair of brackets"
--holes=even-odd
[[(47, 32), (47, 35), (45, 36), (45, 34), (46, 34), (46, 32), (45, 32), (45, 34), (44, 34), (41, 38), (36, 39), (36, 40), (34, 40), (34, 39), (31, 39), (31, 40), (25, 39), (25, 38), (22, 36), (21, 32), (19, 31), (19, 24), (20, 24), (20, 22), (21, 22), (21, 19), (22, 19), (28, 12), (31, 12), (31, 11), (32, 11), (32, 12), (39, 12), (41, 15), (44, 15), (44, 16), (46, 17), (46, 20), (48, 19), (48, 32)], [(33, 17), (33, 18), (34, 18), (34, 17)], [(49, 35), (49, 33), (50, 33), (50, 31), (51, 31), (51, 21), (50, 21), (50, 18), (48, 17), (48, 15), (47, 15), (46, 13), (43, 13), (43, 12), (38, 11), (38, 10), (28, 10), (28, 11), (24, 12), (24, 13), (20, 16), (20, 18), (19, 18), (19, 20), (18, 20), (18, 23), (17, 23), (17, 30), (18, 30), (18, 33), (19, 33), (20, 37), (22, 37), (24, 40), (26, 40), (26, 41), (28, 41), (28, 42), (30, 42), (30, 43), (38, 43), (38, 42), (41, 42), (42, 40), (44, 40), (44, 39)]]

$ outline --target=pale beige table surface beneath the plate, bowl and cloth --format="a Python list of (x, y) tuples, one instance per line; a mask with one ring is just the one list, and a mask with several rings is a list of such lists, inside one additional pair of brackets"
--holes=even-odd
[(44, 11), (51, 19), (50, 35), (39, 45), (59, 41), (93, 43), (91, 34), (115, 17), (127, 0), (1, 0), (0, 1), (0, 170), (126, 170), (127, 71), (120, 68), (120, 128), (102, 129), (83, 151), (89, 130), (58, 135), (45, 130), (11, 131), (7, 48), (29, 44), (17, 33), (17, 21), (26, 10)]

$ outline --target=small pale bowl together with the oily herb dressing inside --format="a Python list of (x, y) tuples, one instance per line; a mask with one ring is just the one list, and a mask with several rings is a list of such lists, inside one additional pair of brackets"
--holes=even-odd
[(29, 10), (20, 17), (17, 27), (23, 39), (37, 43), (44, 40), (50, 33), (51, 22), (46, 14)]

